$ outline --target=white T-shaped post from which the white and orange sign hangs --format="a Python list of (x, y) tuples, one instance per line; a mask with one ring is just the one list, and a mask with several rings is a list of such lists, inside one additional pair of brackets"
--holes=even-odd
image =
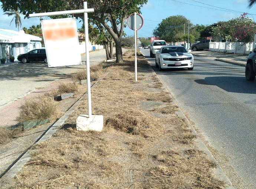
[(67, 10), (67, 11), (56, 11), (50, 13), (35, 13), (29, 14), (29, 17), (43, 17), (43, 16), (56, 16), (64, 14), (77, 14), (84, 13), (85, 16), (85, 51), (86, 51), (86, 73), (87, 73), (87, 90), (88, 90), (88, 116), (92, 117), (92, 102), (91, 102), (91, 78), (90, 78), (90, 59), (89, 59), (89, 36), (88, 36), (88, 13), (94, 12), (93, 8), (87, 8), (87, 2), (83, 2), (84, 9), (81, 10)]

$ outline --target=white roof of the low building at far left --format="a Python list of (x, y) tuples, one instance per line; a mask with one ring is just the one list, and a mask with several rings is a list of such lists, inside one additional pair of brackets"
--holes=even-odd
[(0, 43), (29, 43), (30, 41), (42, 41), (42, 39), (35, 35), (25, 34), (23, 30), (0, 29)]

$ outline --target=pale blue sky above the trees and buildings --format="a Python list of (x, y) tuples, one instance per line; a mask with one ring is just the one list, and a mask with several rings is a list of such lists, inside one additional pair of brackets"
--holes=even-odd
[[(256, 5), (250, 9), (247, 5), (247, 0), (148, 0), (148, 3), (141, 8), (144, 25), (138, 30), (138, 37), (151, 37), (152, 31), (163, 19), (175, 15), (186, 17), (192, 24), (210, 25), (217, 21), (239, 17), (241, 13), (246, 12), (252, 14), (248, 16), (256, 21)], [(29, 28), (40, 24), (39, 18), (21, 17), (22, 27)], [(0, 8), (0, 28), (17, 30), (14, 21), (10, 25), (11, 20), (12, 17), (4, 15)], [(80, 27), (81, 23), (78, 23), (78, 28)], [(134, 31), (128, 27), (124, 31), (127, 35), (134, 35)]]

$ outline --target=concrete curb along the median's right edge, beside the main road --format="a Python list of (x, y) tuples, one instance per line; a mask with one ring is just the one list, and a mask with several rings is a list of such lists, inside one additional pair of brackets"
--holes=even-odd
[[(143, 53), (141, 53), (143, 56), (145, 56)], [(152, 66), (149, 64), (151, 72), (153, 75), (155, 75), (160, 81), (161, 79), (158, 77), (158, 75), (155, 73), (154, 69), (152, 68)], [(162, 85), (164, 86), (163, 82), (161, 81)], [(168, 92), (172, 97), (174, 97), (173, 93), (169, 92), (167, 90), (167, 88), (164, 86), (163, 89), (164, 92)], [(194, 135), (197, 136), (196, 138), (196, 146), (199, 150), (202, 150), (207, 157), (212, 160), (213, 162), (215, 162), (215, 164), (217, 165), (217, 167), (214, 169), (214, 173), (213, 175), (220, 178), (222, 181), (224, 181), (227, 186), (225, 186), (225, 189), (235, 189), (232, 186), (232, 183), (230, 182), (229, 178), (227, 177), (227, 175), (224, 173), (224, 171), (221, 169), (220, 165), (217, 163), (216, 159), (213, 157), (213, 155), (211, 154), (211, 152), (209, 151), (209, 149), (207, 148), (207, 146), (204, 144), (204, 142), (201, 140), (200, 136), (197, 134), (196, 130), (194, 129), (194, 127), (190, 124), (190, 121), (188, 120), (188, 118), (185, 116), (185, 114), (183, 113), (183, 111), (180, 109), (180, 107), (178, 106), (178, 103), (176, 101), (176, 99), (174, 99), (174, 101), (172, 102), (173, 105), (176, 105), (178, 107), (178, 111), (175, 112), (176, 116), (182, 117), (186, 120), (186, 122), (188, 123), (189, 129), (192, 131), (192, 133)]]

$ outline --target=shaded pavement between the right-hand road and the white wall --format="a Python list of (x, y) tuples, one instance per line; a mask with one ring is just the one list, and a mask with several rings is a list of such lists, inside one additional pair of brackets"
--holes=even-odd
[(192, 51), (191, 53), (194, 56), (202, 56), (207, 59), (232, 63), (239, 66), (245, 66), (248, 57), (248, 55), (219, 53), (212, 51)]

